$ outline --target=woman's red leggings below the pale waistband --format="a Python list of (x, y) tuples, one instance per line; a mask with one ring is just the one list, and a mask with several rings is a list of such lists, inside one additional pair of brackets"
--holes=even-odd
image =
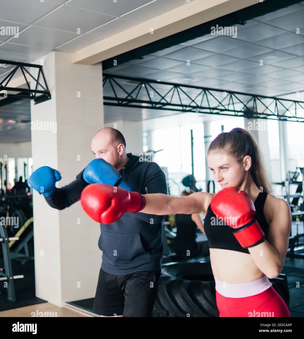
[(246, 298), (227, 298), (216, 291), (220, 317), (290, 317), (288, 307), (274, 287)]

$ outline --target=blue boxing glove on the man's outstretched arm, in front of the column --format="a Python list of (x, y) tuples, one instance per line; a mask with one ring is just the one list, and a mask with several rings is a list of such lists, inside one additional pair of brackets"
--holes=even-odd
[(29, 177), (28, 183), (39, 193), (45, 197), (50, 197), (55, 193), (57, 188), (56, 181), (61, 179), (61, 174), (57, 169), (49, 166), (42, 166), (36, 169), (35, 172)]

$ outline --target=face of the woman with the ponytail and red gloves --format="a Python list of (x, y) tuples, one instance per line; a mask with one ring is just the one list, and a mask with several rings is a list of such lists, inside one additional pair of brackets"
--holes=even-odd
[(208, 155), (208, 166), (213, 172), (214, 180), (222, 188), (231, 186), (240, 187), (245, 179), (246, 170), (251, 165), (250, 157), (246, 156), (244, 160), (242, 163), (238, 163), (234, 157), (224, 152), (210, 153)]

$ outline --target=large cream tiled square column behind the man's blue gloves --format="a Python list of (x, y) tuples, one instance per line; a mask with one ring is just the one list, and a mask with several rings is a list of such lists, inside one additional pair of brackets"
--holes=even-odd
[[(37, 105), (31, 101), (33, 171), (40, 166), (58, 169), (61, 187), (93, 159), (91, 139), (104, 121), (102, 66), (73, 64), (72, 55), (62, 52), (35, 63), (41, 62), (52, 98)], [(37, 130), (44, 122), (52, 130)], [(80, 202), (58, 211), (36, 191), (33, 201), (36, 296), (58, 306), (94, 297), (102, 254), (99, 224)]]

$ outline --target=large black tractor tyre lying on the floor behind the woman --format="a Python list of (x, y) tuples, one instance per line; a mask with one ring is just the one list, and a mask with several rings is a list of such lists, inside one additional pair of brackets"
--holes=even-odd
[[(289, 305), (287, 277), (269, 279)], [(206, 261), (164, 264), (161, 270), (154, 317), (218, 317), (215, 281), (211, 263)]]

